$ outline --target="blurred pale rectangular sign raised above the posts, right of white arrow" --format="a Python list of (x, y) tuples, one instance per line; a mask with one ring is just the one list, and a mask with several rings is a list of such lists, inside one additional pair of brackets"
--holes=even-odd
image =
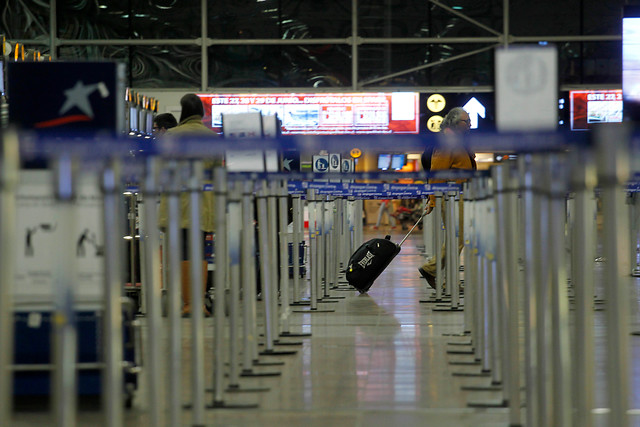
[(549, 131), (558, 126), (558, 52), (552, 46), (496, 51), (498, 131)]

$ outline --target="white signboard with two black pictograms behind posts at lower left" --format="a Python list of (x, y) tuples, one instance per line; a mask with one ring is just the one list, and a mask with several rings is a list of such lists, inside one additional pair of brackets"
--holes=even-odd
[[(104, 283), (103, 202), (94, 174), (78, 176), (71, 210), (61, 211), (50, 171), (23, 171), (16, 195), (17, 303), (50, 302), (60, 277), (61, 251), (74, 265), (75, 296), (79, 302), (102, 298)], [(65, 221), (67, 221), (65, 223)], [(65, 232), (65, 224), (67, 230)]]

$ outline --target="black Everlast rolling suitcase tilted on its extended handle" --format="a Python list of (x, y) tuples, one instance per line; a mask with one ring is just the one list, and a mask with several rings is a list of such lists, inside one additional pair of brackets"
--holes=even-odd
[(400, 243), (393, 243), (389, 235), (384, 239), (377, 238), (364, 242), (349, 258), (346, 273), (349, 284), (361, 294), (367, 292), (378, 276), (398, 255), (402, 244), (422, 221), (423, 216), (420, 216)]

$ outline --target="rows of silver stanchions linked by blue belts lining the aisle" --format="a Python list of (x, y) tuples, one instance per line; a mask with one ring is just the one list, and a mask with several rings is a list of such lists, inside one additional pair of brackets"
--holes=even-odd
[[(141, 281), (148, 333), (144, 360), (137, 365), (144, 368), (147, 381), (150, 423), (157, 426), (182, 423), (182, 385), (186, 382), (191, 387), (192, 425), (205, 424), (207, 408), (239, 407), (227, 401), (227, 393), (268, 390), (243, 388), (240, 377), (279, 375), (279, 372), (255, 372), (254, 367), (282, 364), (264, 362), (261, 357), (296, 354), (295, 350), (280, 351), (276, 346), (295, 348), (301, 342), (285, 338), (310, 335), (310, 331), (291, 330), (293, 313), (330, 313), (334, 311), (330, 309), (331, 303), (343, 298), (332, 291), (353, 290), (344, 286), (344, 271), (349, 255), (363, 241), (363, 200), (425, 199), (434, 195), (436, 207), (429, 224), (423, 227), (423, 242), (424, 254), (433, 253), (437, 261), (436, 289), (425, 302), (435, 304), (432, 311), (464, 310), (460, 335), (471, 339), (474, 362), (480, 365), (482, 375), (491, 378), (491, 385), (485, 389), (500, 391), (502, 396), (499, 402), (469, 401), (469, 406), (508, 407), (510, 425), (552, 423), (588, 427), (594, 425), (595, 400), (597, 194), (602, 201), (601, 258), (605, 260), (600, 265), (606, 283), (603, 294), (608, 338), (608, 425), (628, 426), (632, 314), (629, 276), (640, 271), (635, 207), (640, 179), (629, 172), (629, 159), (636, 153), (630, 154), (627, 143), (632, 138), (625, 132), (624, 127), (603, 127), (596, 132), (593, 146), (586, 138), (569, 139), (561, 134), (478, 135), (468, 141), (472, 149), (515, 152), (517, 161), (493, 166), (489, 172), (402, 174), (403, 178), (423, 182), (451, 181), (443, 184), (354, 182), (393, 181), (398, 178), (397, 173), (249, 173), (231, 172), (224, 167), (205, 170), (204, 160), (219, 157), (231, 147), (253, 150), (255, 141), (184, 140), (178, 144), (167, 140), (141, 146), (130, 141), (87, 143), (30, 137), (19, 140), (18, 135), (6, 132), (0, 174), (0, 344), (11, 350), (12, 314), (20, 311), (22, 303), (14, 298), (13, 282), (19, 272), (13, 267), (16, 264), (12, 249), (18, 246), (15, 233), (18, 147), (25, 157), (44, 153), (53, 161), (59, 213), (56, 226), (69, 235), (74, 233), (76, 168), (95, 174), (100, 180), (104, 270), (102, 289), (94, 302), (98, 303), (98, 310), (104, 311), (105, 319), (101, 334), (107, 345), (102, 346), (104, 354), (97, 366), (102, 372), (103, 417), (108, 426), (123, 423), (126, 374), (122, 369), (123, 343), (127, 337), (123, 336), (121, 326), (124, 279), (120, 274), (119, 253), (124, 252), (126, 244), (131, 244), (121, 239), (120, 230), (125, 189), (139, 194), (136, 202), (141, 210)], [(393, 138), (394, 149), (421, 151), (424, 147), (422, 138)], [(313, 152), (319, 147), (343, 151), (345, 144), (353, 141), (371, 151), (388, 150), (390, 146), (386, 137), (294, 138), (261, 140), (260, 144), (264, 149)], [(636, 140), (633, 142), (634, 147), (640, 145)], [(466, 182), (460, 185), (452, 182), (455, 180)], [(213, 193), (215, 201), (214, 287), (208, 293), (214, 303), (210, 377), (205, 372), (204, 350), (204, 330), (209, 321), (201, 309), (206, 300), (202, 289), (205, 277), (200, 229), (204, 225), (201, 227), (200, 207), (208, 203), (203, 197), (206, 193)], [(190, 206), (188, 273), (192, 310), (192, 374), (188, 381), (180, 374), (183, 341), (180, 229), (181, 216), (186, 213), (181, 212), (181, 198), (185, 196)], [(164, 198), (166, 224), (159, 221), (157, 209)], [(292, 220), (287, 218), (289, 198)], [(463, 200), (464, 221), (460, 228), (458, 215), (462, 210), (458, 205)], [(629, 210), (626, 213), (625, 201)], [(306, 236), (305, 206), (309, 214)], [(44, 225), (41, 228), (43, 232), (52, 229)], [(129, 235), (134, 239), (134, 225), (130, 226)], [(163, 265), (166, 264), (164, 280), (160, 274), (161, 247)], [(53, 273), (55, 298), (51, 300), (55, 319), (52, 326), (55, 351), (50, 364), (55, 372), (53, 417), (59, 426), (75, 425), (77, 412), (76, 391), (71, 388), (80, 366), (75, 360), (78, 285), (72, 249), (60, 248), (61, 262)], [(132, 245), (132, 257), (134, 250)], [(460, 278), (458, 268), (460, 250), (463, 250), (464, 279)], [(632, 257), (635, 269), (631, 268)], [(131, 270), (130, 281), (134, 284), (133, 263)], [(163, 301), (168, 307), (168, 352), (161, 347), (165, 333), (161, 327)], [(257, 302), (261, 304), (262, 321), (258, 319)], [(575, 316), (570, 321), (572, 307)], [(135, 337), (128, 338), (136, 341)], [(13, 351), (0, 352), (0, 368), (4, 372), (19, 368), (14, 366), (12, 354)], [(165, 366), (169, 367), (168, 373)], [(212, 378), (213, 389), (205, 388), (206, 378)], [(225, 384), (228, 388), (224, 388)], [(208, 405), (207, 391), (213, 393)], [(1, 419), (10, 419), (12, 393), (11, 376), (0, 375)], [(164, 417), (165, 408), (169, 417)]]

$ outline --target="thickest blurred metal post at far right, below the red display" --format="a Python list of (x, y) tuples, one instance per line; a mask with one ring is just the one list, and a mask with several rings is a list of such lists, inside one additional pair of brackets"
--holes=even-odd
[(598, 184), (602, 190), (603, 251), (607, 284), (607, 391), (609, 425), (629, 426), (629, 247), (622, 186), (629, 178), (629, 128), (602, 126), (596, 133)]

